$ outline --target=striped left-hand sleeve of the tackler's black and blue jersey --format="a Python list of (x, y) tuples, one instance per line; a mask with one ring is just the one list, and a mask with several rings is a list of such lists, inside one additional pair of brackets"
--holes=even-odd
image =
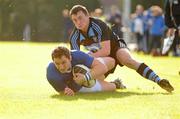
[(74, 28), (69, 38), (71, 50), (80, 50), (80, 43), (78, 39), (79, 39), (79, 31)]

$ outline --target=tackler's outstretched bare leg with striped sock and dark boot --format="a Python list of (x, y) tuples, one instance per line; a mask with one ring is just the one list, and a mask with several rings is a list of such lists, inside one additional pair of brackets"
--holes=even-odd
[(171, 86), (168, 80), (162, 79), (145, 63), (140, 63), (134, 58), (132, 58), (130, 52), (126, 48), (121, 48), (116, 53), (117, 59), (123, 65), (136, 70), (141, 76), (146, 79), (149, 79), (153, 82), (156, 82), (161, 88), (165, 89), (168, 92), (172, 92), (174, 88)]

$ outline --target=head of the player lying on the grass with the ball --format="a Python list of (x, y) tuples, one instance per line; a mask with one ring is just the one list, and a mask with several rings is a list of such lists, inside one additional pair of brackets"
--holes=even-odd
[(61, 73), (71, 71), (71, 53), (69, 49), (59, 46), (53, 50), (51, 56), (56, 68)]

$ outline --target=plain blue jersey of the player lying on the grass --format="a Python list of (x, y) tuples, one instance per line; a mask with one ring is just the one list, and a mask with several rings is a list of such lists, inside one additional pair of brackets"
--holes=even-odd
[[(91, 68), (92, 62), (94, 60), (93, 57), (81, 51), (71, 51), (72, 56), (72, 67), (77, 64), (83, 64), (89, 68)], [(70, 73), (61, 73), (56, 68), (53, 62), (49, 63), (47, 67), (46, 77), (48, 82), (52, 85), (52, 87), (57, 91), (63, 91), (66, 86), (71, 88), (74, 91), (78, 91), (81, 86), (76, 84), (73, 80), (72, 72)]]

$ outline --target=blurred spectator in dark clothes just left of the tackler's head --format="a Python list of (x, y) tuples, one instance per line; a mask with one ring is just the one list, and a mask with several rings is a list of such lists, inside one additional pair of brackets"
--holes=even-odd
[(63, 15), (63, 25), (64, 25), (64, 31), (63, 31), (63, 42), (68, 42), (68, 38), (71, 34), (71, 31), (73, 29), (73, 22), (71, 21), (70, 19), (70, 16), (69, 16), (69, 10), (68, 9), (64, 9), (62, 11), (62, 15)]

